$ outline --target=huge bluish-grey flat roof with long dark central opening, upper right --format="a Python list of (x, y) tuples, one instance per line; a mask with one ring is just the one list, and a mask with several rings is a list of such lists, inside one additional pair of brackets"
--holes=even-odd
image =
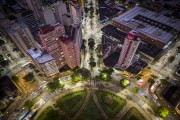
[(139, 6), (119, 15), (114, 21), (163, 43), (168, 43), (180, 31), (180, 21)]

